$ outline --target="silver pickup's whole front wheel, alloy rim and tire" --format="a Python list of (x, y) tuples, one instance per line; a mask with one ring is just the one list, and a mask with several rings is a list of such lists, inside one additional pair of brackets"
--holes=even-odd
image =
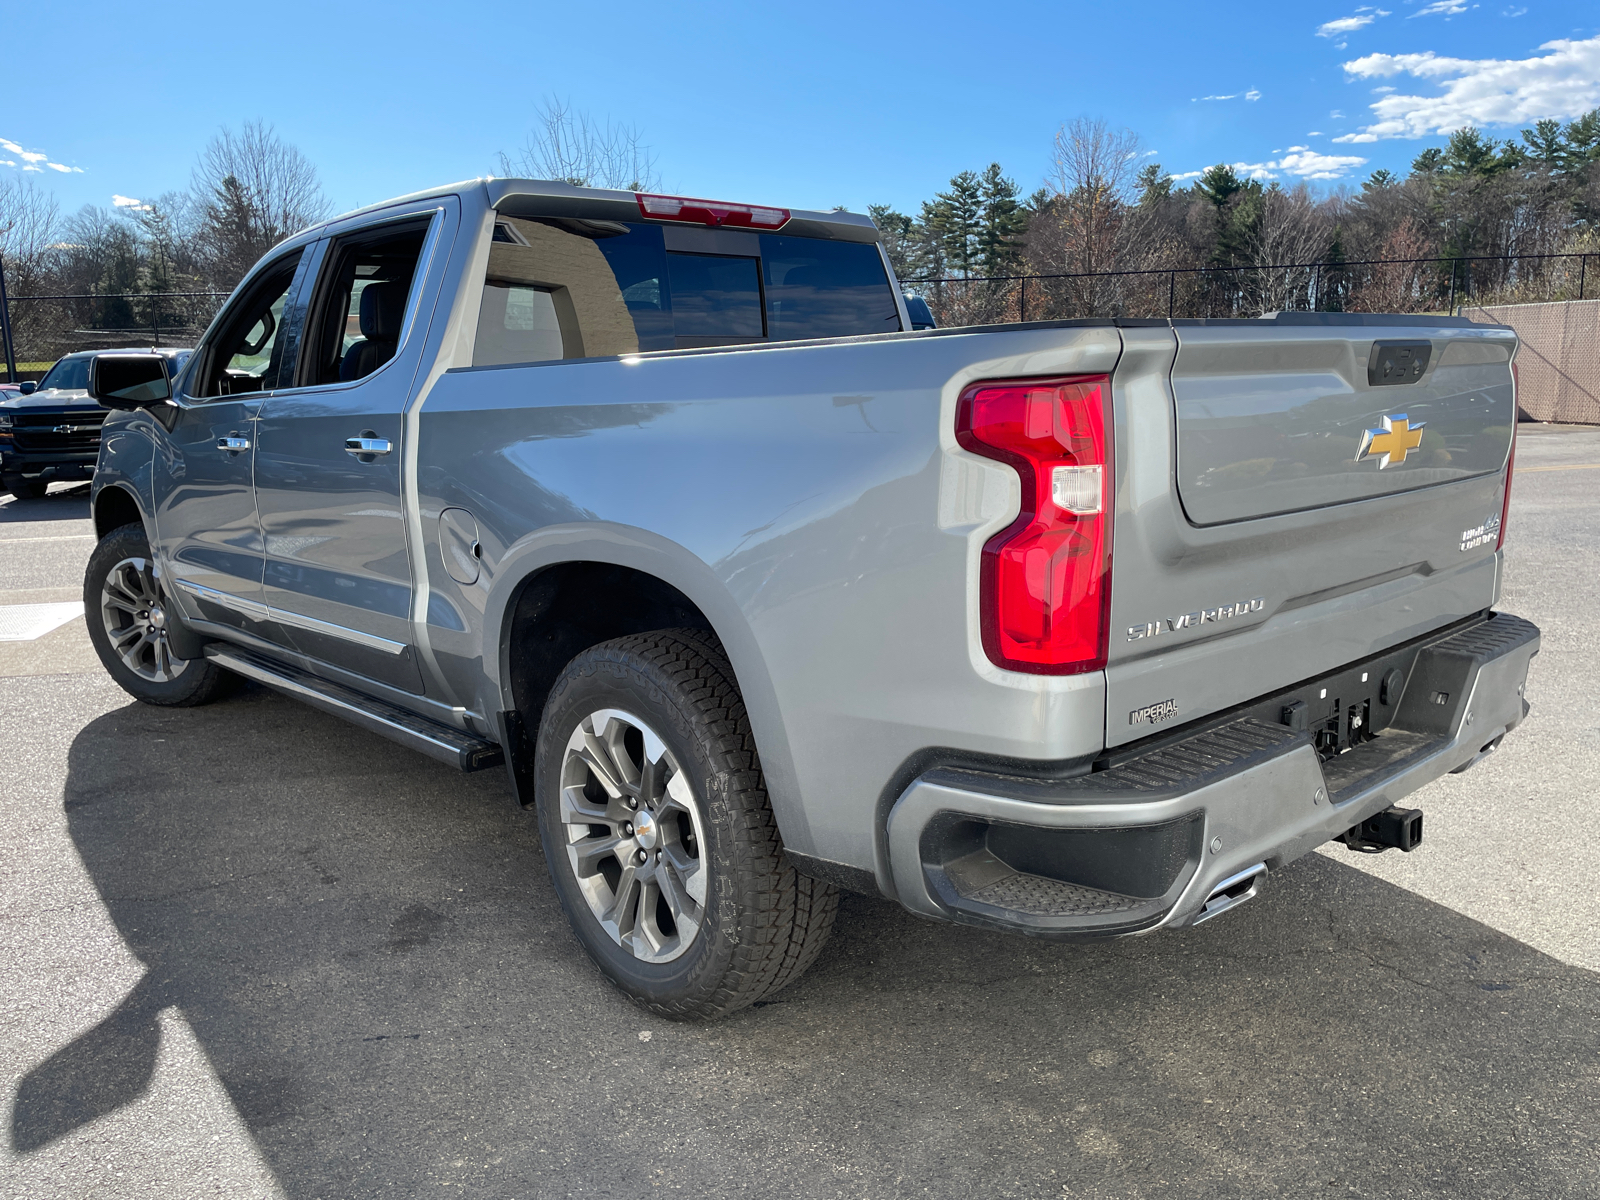
[(83, 619), (106, 670), (146, 704), (210, 704), (235, 678), (208, 659), (173, 653), (171, 597), (142, 525), (112, 530), (94, 547), (83, 574)]

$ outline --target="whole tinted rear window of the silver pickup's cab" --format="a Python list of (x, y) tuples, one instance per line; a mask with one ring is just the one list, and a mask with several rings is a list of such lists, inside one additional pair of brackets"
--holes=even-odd
[[(682, 245), (682, 242), (680, 242)], [(749, 253), (720, 253), (733, 248)], [(475, 366), (899, 330), (877, 245), (738, 234), (669, 250), (662, 226), (501, 218)]]

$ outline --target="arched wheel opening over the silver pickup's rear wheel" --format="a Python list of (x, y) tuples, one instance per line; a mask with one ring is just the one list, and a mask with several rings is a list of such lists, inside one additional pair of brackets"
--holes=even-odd
[(533, 803), (538, 717), (573, 658), (627, 634), (707, 629), (733, 666), (784, 845), (808, 851), (810, 827), (765, 656), (744, 611), (710, 566), (645, 530), (568, 526), (512, 547), (496, 576), (485, 608), (483, 667), (522, 803)]

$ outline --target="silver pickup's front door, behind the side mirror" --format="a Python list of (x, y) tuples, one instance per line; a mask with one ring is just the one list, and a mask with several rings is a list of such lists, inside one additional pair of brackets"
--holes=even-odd
[(152, 467), (157, 560), (190, 619), (267, 630), (253, 490), (256, 418), (294, 363), (304, 250), (254, 272), (179, 378)]

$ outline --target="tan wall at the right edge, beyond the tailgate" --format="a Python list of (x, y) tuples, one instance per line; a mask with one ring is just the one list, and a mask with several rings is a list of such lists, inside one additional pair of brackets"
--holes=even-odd
[(1600, 426), (1600, 301), (1490, 304), (1461, 315), (1517, 331), (1523, 419)]

